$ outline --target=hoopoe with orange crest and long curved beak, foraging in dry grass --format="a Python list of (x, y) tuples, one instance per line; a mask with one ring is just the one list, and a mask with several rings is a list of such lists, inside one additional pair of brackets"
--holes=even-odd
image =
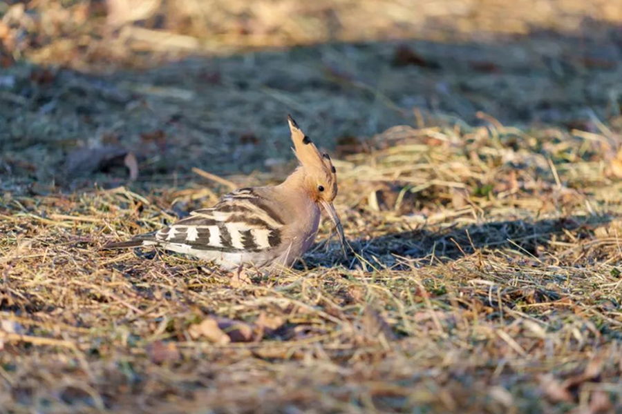
[(214, 262), (223, 270), (289, 267), (313, 244), (322, 207), (346, 255), (343, 228), (332, 204), (337, 171), (290, 115), (288, 123), (300, 165), (283, 183), (234, 190), (215, 206), (194, 210), (171, 226), (104, 248), (156, 246)]

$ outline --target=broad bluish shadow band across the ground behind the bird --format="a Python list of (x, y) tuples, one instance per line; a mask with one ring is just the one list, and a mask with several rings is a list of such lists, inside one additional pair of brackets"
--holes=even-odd
[(397, 124), (489, 124), (480, 111), (591, 130), (620, 113), (621, 46), (619, 27), (585, 19), (578, 34), (327, 43), (105, 76), (18, 63), (0, 81), (0, 188), (128, 184), (128, 153), (141, 190), (185, 186), (194, 166), (283, 175), (289, 112), (337, 157)]

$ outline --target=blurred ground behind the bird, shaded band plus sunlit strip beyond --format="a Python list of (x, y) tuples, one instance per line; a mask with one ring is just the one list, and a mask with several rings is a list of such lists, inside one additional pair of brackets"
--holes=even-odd
[(396, 125), (622, 128), (621, 0), (4, 0), (0, 41), (0, 190), (279, 174), (288, 112), (337, 157)]

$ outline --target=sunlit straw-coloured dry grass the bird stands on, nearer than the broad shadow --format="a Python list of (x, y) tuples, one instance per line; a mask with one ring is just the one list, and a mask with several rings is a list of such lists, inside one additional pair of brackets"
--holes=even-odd
[[(582, 161), (592, 141), (540, 137), (572, 158), (554, 164), (558, 186), (547, 155), (509, 149), (519, 133), (399, 127), (377, 137), (388, 148), (337, 164), (357, 257), (336, 264), (337, 246), (318, 246), (305, 270), (245, 286), (183, 257), (97, 250), (160, 226), (171, 199), (207, 202), (201, 189), (6, 197), (2, 319), (14, 333), (3, 403), (565, 412), (606, 397), (619, 409), (622, 186)], [(377, 210), (395, 186), (399, 213), (395, 201)], [(254, 329), (269, 317), (276, 331), (248, 343), (193, 338), (192, 324), (210, 316)], [(581, 377), (589, 364), (596, 373)]]

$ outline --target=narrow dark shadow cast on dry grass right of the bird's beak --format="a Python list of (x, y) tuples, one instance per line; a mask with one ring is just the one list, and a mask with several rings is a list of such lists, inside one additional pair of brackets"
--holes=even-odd
[[(370, 267), (405, 270), (411, 264), (419, 266), (417, 262), (420, 259), (446, 262), (476, 252), (495, 254), (500, 251), (509, 253), (507, 257), (522, 258), (534, 264), (550, 259), (563, 261), (564, 256), (572, 252), (560, 254), (558, 247), (551, 246), (550, 242), (564, 242), (567, 235), (572, 234), (573, 243), (581, 247), (582, 240), (594, 239), (594, 230), (610, 221), (612, 217), (608, 216), (569, 216), (538, 221), (493, 221), (451, 226), (437, 231), (413, 230), (352, 241), (350, 244), (358, 258), (352, 257), (350, 253), (347, 261), (340, 257), (337, 242), (329, 242), (328, 249), (326, 242), (321, 242), (297, 266), (314, 268), (341, 265), (353, 268), (366, 262)], [(593, 259), (599, 257), (594, 256)]]

